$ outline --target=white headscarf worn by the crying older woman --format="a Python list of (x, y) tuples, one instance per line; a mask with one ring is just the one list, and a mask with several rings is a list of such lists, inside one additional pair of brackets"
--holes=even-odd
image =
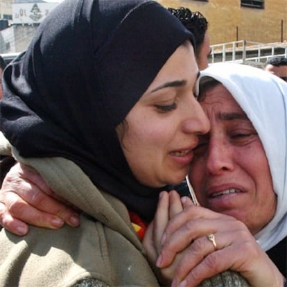
[(255, 238), (263, 250), (270, 250), (287, 236), (287, 83), (243, 64), (212, 64), (201, 72), (200, 78), (205, 76), (215, 78), (228, 89), (254, 125), (265, 149), (277, 194), (277, 210)]

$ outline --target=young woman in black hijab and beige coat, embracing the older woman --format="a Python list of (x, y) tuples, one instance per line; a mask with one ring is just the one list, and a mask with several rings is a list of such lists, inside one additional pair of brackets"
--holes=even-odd
[(153, 218), (209, 129), (191, 43), (155, 1), (66, 0), (7, 67), (13, 155), (83, 213), (78, 229), (2, 230), (1, 286), (157, 285), (129, 214)]

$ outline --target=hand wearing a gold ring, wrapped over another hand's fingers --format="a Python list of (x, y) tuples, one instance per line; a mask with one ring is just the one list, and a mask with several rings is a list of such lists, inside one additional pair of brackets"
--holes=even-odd
[(180, 254), (172, 287), (182, 281), (182, 286), (198, 286), (225, 270), (240, 273), (251, 286), (283, 284), (277, 267), (254, 236), (231, 216), (203, 207), (187, 207), (169, 220), (161, 244), (159, 268), (167, 268)]

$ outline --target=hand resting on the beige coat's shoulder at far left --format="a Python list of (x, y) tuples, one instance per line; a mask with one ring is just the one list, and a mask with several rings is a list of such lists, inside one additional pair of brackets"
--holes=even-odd
[(26, 223), (51, 229), (58, 229), (64, 223), (76, 227), (78, 216), (76, 207), (62, 200), (39, 173), (24, 164), (15, 164), (3, 180), (0, 225), (12, 233), (26, 234)]

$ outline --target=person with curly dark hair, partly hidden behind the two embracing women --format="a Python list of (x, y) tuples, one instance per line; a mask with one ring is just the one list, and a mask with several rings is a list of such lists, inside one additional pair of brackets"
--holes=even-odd
[(193, 33), (195, 37), (196, 62), (200, 70), (208, 67), (208, 56), (211, 48), (209, 44), (209, 33), (207, 31), (208, 21), (200, 12), (191, 12), (189, 8), (168, 8), (177, 19), (179, 19), (184, 26)]

